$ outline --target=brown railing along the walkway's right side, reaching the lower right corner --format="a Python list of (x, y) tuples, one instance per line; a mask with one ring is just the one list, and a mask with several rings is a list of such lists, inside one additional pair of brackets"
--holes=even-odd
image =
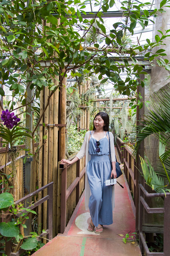
[[(121, 147), (123, 145), (123, 147)], [(144, 181), (143, 177), (140, 175), (138, 170), (137, 163), (135, 158), (133, 157), (132, 149), (127, 146), (125, 143), (123, 144), (122, 140), (117, 137), (117, 146), (119, 156), (123, 156), (124, 162), (124, 172), (126, 179), (128, 181), (129, 189), (134, 195), (134, 204), (136, 206), (136, 231), (137, 235), (139, 236), (139, 245), (141, 252), (143, 249), (146, 252), (147, 256), (169, 256), (170, 255), (170, 193), (166, 193), (166, 197), (164, 193), (148, 193), (145, 189), (147, 186)], [(123, 152), (122, 152), (123, 150)], [(120, 152), (121, 151), (121, 152)], [(143, 182), (143, 185), (140, 184)], [(149, 188), (149, 187), (148, 187)], [(164, 197), (164, 207), (162, 208), (150, 208), (148, 203), (152, 205), (152, 202), (149, 198), (153, 200), (154, 197)], [(146, 202), (146, 201), (147, 202)], [(157, 204), (157, 203), (155, 203)], [(148, 214), (159, 214), (164, 213), (164, 227), (160, 228), (159, 225), (152, 225), (152, 223), (145, 224), (144, 223), (144, 209)], [(164, 252), (149, 252), (147, 243), (144, 239), (143, 233), (164, 233)]]

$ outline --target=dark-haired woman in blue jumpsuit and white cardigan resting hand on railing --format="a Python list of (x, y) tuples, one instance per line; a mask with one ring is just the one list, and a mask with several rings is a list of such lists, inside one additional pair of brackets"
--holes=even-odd
[[(114, 186), (106, 186), (105, 181), (117, 177), (115, 167), (114, 137), (111, 132), (110, 148), (112, 168), (109, 159), (109, 116), (99, 112), (93, 120), (93, 131), (86, 132), (84, 142), (77, 156), (61, 162), (72, 164), (86, 155), (85, 207), (90, 211), (91, 221), (87, 230), (103, 232), (103, 225), (113, 223)], [(96, 230), (95, 230), (96, 227)]]

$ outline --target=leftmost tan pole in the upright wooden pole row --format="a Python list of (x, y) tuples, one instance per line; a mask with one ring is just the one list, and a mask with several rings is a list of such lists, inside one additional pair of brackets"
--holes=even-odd
[[(40, 93), (40, 115), (42, 114), (44, 109), (44, 89)], [(44, 117), (41, 119), (41, 124), (44, 122)], [(43, 135), (44, 135), (44, 127), (40, 126), (40, 140), (39, 140), (39, 147), (43, 144)], [(38, 187), (43, 187), (43, 163), (44, 163), (44, 151), (43, 147), (41, 148), (39, 152), (39, 167), (38, 167)], [(43, 191), (38, 193), (38, 200), (40, 200), (43, 197)], [(43, 220), (43, 211), (42, 211), (43, 205), (38, 205), (38, 227), (40, 234), (42, 233), (42, 220)], [(39, 235), (40, 235), (39, 234)]]

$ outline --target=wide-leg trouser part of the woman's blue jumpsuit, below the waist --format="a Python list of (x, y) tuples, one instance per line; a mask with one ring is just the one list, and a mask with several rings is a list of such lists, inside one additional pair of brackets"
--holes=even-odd
[[(102, 159), (101, 156), (98, 159)], [(89, 210), (93, 224), (110, 225), (113, 223), (112, 186), (104, 183), (111, 175), (109, 158), (106, 161), (92, 161), (87, 165), (87, 176), (91, 190)]]

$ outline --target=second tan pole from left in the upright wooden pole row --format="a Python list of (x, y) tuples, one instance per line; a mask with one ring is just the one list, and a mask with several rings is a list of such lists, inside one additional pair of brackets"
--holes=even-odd
[[(48, 87), (45, 87), (44, 91), (44, 102), (45, 105), (47, 104), (47, 97), (49, 94), (49, 89)], [(45, 113), (44, 113), (44, 123), (49, 124), (49, 106), (47, 107)], [(46, 127), (44, 127), (46, 131)], [(47, 132), (47, 139), (45, 139), (45, 145), (44, 145), (44, 172), (43, 172), (43, 185), (48, 184), (48, 138), (49, 138), (49, 133)], [(47, 189), (44, 189), (43, 196), (47, 196)], [(43, 203), (43, 229), (47, 229), (47, 201)], [(43, 243), (46, 244), (46, 240), (43, 239)]]

